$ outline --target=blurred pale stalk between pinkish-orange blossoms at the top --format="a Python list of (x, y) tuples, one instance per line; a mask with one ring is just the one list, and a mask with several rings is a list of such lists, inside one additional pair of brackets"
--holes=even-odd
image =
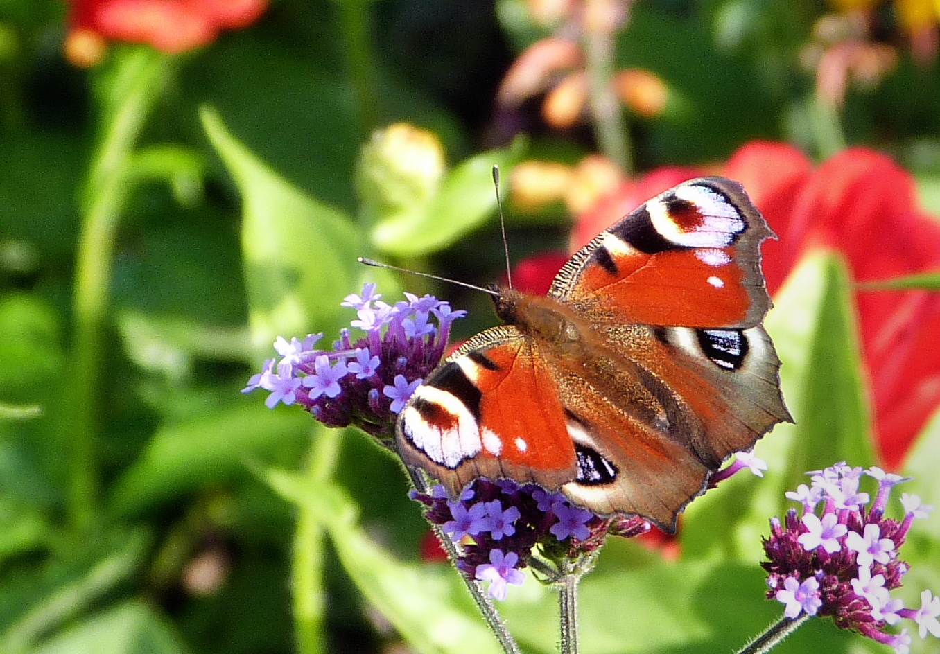
[(611, 86), (614, 78), (614, 33), (587, 32), (584, 49), (587, 55), (587, 101), (598, 148), (629, 177), (634, 172), (630, 132)]

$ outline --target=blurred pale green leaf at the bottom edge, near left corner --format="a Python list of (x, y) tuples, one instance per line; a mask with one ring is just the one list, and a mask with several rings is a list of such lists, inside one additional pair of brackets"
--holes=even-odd
[(163, 615), (128, 601), (86, 617), (37, 647), (35, 654), (184, 654), (188, 650)]

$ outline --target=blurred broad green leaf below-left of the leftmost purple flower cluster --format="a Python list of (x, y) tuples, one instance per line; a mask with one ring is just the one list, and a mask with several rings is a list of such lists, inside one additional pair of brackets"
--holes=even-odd
[(160, 429), (120, 477), (110, 498), (134, 515), (185, 492), (244, 474), (250, 458), (295, 458), (307, 444), (309, 416), (252, 403)]

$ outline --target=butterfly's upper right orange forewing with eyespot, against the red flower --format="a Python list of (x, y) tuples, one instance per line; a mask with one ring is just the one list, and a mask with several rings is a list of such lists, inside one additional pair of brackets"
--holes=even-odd
[(589, 242), (549, 296), (621, 322), (752, 327), (770, 308), (759, 250), (770, 236), (740, 184), (694, 179)]

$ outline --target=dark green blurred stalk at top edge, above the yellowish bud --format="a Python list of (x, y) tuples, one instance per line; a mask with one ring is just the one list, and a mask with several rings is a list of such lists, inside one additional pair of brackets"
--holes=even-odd
[(369, 40), (368, 4), (367, 0), (337, 2), (346, 70), (352, 81), (360, 135), (363, 139), (376, 128), (379, 120), (379, 102)]

